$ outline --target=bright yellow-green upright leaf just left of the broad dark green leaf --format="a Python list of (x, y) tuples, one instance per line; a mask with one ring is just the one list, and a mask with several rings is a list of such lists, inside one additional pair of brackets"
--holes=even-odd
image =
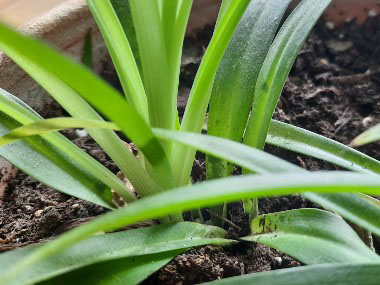
[[(249, 0), (233, 1), (214, 32), (194, 80), (181, 131), (199, 133), (202, 130), (215, 74)], [(176, 185), (189, 182), (195, 152), (185, 146), (176, 146), (171, 165)]]

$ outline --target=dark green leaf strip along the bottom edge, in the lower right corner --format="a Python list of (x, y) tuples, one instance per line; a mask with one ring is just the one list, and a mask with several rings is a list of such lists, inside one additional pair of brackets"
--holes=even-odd
[(226, 278), (205, 284), (213, 285), (376, 285), (379, 264), (319, 264)]

